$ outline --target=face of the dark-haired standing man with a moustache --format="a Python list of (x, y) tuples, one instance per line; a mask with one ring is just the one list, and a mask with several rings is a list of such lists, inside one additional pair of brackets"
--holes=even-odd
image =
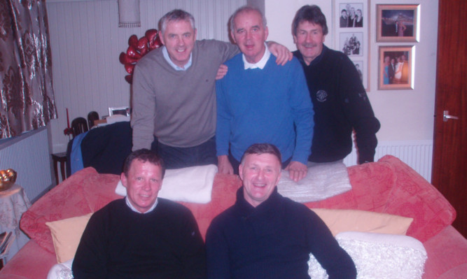
[(309, 21), (302, 21), (298, 24), (297, 34), (293, 36), (293, 41), (303, 56), (305, 63), (309, 65), (313, 59), (321, 55), (323, 43), (326, 35), (323, 35), (323, 27)]

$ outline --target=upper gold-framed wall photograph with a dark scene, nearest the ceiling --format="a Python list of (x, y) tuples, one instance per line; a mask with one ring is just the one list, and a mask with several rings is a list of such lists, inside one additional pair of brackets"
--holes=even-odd
[(377, 42), (418, 42), (420, 5), (377, 5)]

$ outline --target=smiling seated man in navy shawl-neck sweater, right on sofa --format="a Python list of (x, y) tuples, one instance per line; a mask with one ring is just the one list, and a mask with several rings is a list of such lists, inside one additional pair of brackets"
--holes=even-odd
[(330, 279), (356, 278), (351, 257), (318, 215), (277, 193), (281, 154), (274, 145), (251, 145), (239, 175), (237, 201), (207, 231), (208, 278), (309, 279), (310, 252)]

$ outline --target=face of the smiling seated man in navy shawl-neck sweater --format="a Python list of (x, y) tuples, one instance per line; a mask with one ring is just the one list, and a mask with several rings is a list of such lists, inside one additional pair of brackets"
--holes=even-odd
[(239, 166), (239, 175), (245, 200), (256, 207), (269, 198), (279, 183), (281, 162), (269, 153), (246, 155)]

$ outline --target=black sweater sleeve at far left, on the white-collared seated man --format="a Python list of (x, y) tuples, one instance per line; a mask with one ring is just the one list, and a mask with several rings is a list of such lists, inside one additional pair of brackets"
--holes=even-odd
[(107, 239), (104, 222), (96, 213), (91, 216), (76, 250), (72, 271), (75, 279), (107, 278)]

